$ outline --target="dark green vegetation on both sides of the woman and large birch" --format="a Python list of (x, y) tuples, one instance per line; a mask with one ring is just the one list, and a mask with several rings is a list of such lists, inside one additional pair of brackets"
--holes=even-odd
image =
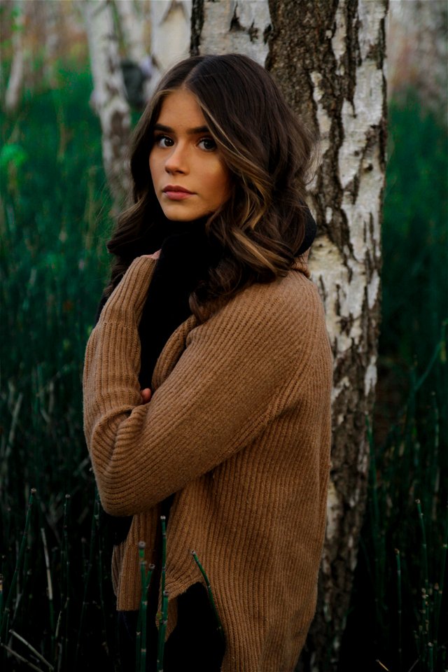
[[(1, 641), (37, 668), (46, 669), (7, 629), (55, 668), (112, 670), (110, 542), (80, 394), (111, 204), (90, 76), (59, 78), (59, 90), (0, 120)], [(407, 92), (391, 104), (389, 134), (378, 401), (341, 672), (380, 671), (377, 659), (391, 672), (448, 665), (447, 132)], [(4, 647), (0, 666), (25, 669)]]

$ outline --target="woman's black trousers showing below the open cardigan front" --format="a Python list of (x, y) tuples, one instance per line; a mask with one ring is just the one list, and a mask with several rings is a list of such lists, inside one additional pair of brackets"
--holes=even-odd
[[(120, 668), (122, 672), (135, 669), (135, 647), (138, 611), (118, 612)], [(157, 661), (158, 629), (155, 615), (148, 619), (146, 672), (155, 672)], [(207, 590), (196, 583), (178, 598), (176, 628), (165, 644), (164, 672), (219, 672), (225, 644), (216, 629)]]

